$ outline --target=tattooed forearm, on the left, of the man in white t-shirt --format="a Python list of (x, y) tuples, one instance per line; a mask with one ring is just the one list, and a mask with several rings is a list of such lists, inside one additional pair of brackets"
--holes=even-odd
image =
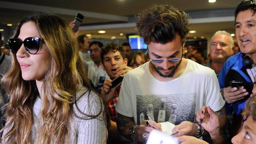
[(130, 130), (132, 129), (132, 126), (135, 125), (134, 118), (118, 114), (116, 124), (119, 133), (131, 140)]

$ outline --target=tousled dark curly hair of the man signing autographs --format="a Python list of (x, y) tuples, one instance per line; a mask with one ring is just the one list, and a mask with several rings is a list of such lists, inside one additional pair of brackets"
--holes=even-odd
[(181, 42), (186, 40), (189, 32), (190, 17), (171, 5), (153, 5), (137, 15), (136, 30), (144, 42), (166, 44), (171, 42), (176, 33)]

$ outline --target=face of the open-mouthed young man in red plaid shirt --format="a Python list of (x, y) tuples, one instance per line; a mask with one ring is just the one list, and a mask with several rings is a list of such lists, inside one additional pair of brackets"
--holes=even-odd
[(108, 54), (103, 56), (103, 70), (106, 70), (107, 75), (114, 79), (117, 77), (117, 68), (120, 65), (127, 65), (127, 58), (123, 59), (121, 53), (119, 51), (109, 52)]

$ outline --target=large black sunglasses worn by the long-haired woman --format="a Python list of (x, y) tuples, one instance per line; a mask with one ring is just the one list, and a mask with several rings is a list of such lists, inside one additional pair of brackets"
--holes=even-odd
[(29, 54), (36, 54), (39, 50), (40, 41), (43, 41), (41, 38), (29, 37), (24, 41), (19, 39), (10, 39), (8, 41), (10, 50), (13, 54), (16, 54), (19, 48), (24, 44), (24, 47)]

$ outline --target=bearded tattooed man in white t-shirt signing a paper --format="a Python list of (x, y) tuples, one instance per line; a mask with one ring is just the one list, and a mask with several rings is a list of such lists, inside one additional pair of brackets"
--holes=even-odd
[(138, 15), (136, 29), (148, 45), (150, 61), (124, 76), (116, 108), (118, 129), (130, 140), (145, 142), (166, 121), (176, 125), (174, 136), (201, 137), (206, 132), (192, 122), (203, 105), (219, 115), (220, 127), (226, 123), (214, 70), (182, 58), (189, 20), (170, 5), (155, 5)]

